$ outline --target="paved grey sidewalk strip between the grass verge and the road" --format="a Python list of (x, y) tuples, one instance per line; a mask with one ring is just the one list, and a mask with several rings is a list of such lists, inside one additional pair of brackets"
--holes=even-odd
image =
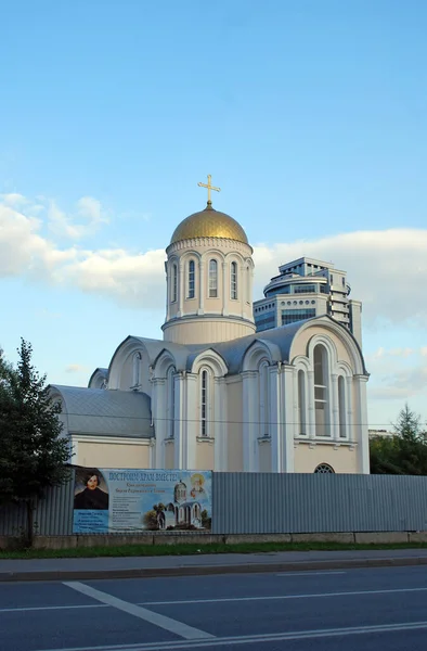
[(426, 565), (427, 549), (281, 551), (170, 557), (0, 560), (0, 582), (153, 578), (251, 572)]

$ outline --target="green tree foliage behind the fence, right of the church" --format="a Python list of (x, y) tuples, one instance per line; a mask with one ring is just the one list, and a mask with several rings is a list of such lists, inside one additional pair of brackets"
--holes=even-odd
[(370, 443), (372, 474), (427, 474), (427, 433), (407, 405), (400, 411), (393, 436)]

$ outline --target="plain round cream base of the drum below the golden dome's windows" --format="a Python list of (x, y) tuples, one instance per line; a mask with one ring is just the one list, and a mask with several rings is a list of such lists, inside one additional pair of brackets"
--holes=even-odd
[(205, 344), (228, 342), (240, 336), (254, 334), (255, 326), (240, 321), (202, 317), (193, 322), (177, 322), (165, 328), (165, 340), (174, 343)]

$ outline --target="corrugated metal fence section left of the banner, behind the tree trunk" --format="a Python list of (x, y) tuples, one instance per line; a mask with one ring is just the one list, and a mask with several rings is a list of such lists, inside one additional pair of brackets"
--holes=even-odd
[[(48, 490), (37, 505), (34, 522), (41, 536), (67, 536), (73, 533), (74, 471), (64, 486)], [(23, 506), (0, 507), (0, 536), (20, 536), (26, 525)]]

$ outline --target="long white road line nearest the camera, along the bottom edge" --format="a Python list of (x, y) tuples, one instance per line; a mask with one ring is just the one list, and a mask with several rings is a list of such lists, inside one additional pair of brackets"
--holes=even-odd
[[(148, 642), (141, 644), (116, 644), (104, 647), (72, 647), (67, 649), (43, 649), (39, 651), (173, 651), (178, 649), (203, 649), (207, 647), (233, 647), (236, 644), (259, 644), (261, 642), (281, 642), (288, 640), (307, 640), (333, 638), (352, 635), (370, 635), (378, 633), (399, 633), (403, 630), (422, 630), (427, 628), (427, 622), (410, 622), (401, 624), (379, 624), (374, 626), (352, 626), (348, 628), (319, 628), (314, 630), (293, 630), (289, 633), (272, 633), (266, 635), (247, 635), (222, 637), (214, 639), (197, 639), (191, 643), (184, 640), (176, 642)], [(262, 647), (263, 648), (263, 647)]]

